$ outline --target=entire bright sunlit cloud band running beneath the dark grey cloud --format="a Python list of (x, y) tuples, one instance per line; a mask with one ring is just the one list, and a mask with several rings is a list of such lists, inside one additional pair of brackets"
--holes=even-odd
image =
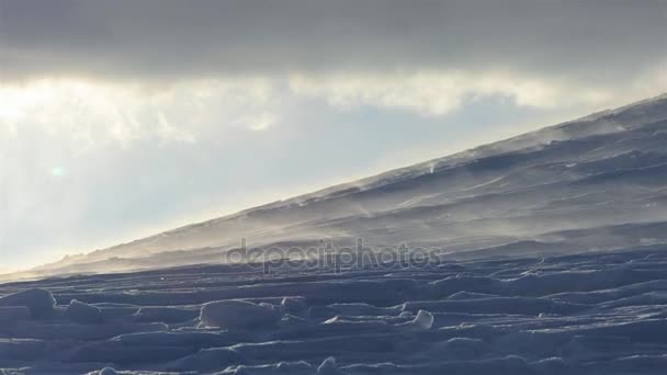
[[(635, 86), (645, 89), (641, 83)], [(10, 137), (26, 124), (45, 132), (67, 132), (83, 148), (147, 138), (194, 144), (212, 126), (253, 132), (275, 128), (286, 112), (313, 99), (341, 111), (372, 106), (445, 116), (466, 102), (493, 95), (505, 96), (519, 107), (553, 109), (611, 105), (637, 98), (640, 90), (631, 88), (620, 98), (603, 86), (581, 87), (507, 71), (298, 73), (169, 84), (41, 79), (0, 88), (0, 129)]]

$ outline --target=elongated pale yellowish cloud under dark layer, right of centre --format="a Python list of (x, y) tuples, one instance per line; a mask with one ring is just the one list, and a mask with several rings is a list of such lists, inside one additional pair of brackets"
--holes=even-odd
[(612, 95), (602, 88), (584, 88), (576, 82), (495, 71), (297, 76), (290, 82), (295, 93), (321, 98), (341, 109), (371, 105), (433, 116), (446, 115), (464, 101), (479, 96), (501, 95), (519, 106), (550, 109), (573, 104), (596, 105)]

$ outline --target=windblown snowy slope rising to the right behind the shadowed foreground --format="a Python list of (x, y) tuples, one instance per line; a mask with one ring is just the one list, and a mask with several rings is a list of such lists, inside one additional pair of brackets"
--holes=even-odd
[[(547, 127), (365, 180), (193, 224), (84, 255), (33, 274), (99, 272), (221, 262), (251, 247), (328, 239), (383, 246), (407, 241), (472, 255), (610, 249), (662, 241), (610, 241), (573, 230), (667, 219), (667, 96)], [(607, 228), (607, 229), (606, 229)], [(632, 231), (631, 231), (632, 234)], [(619, 235), (615, 236), (617, 238)], [(540, 246), (523, 248), (536, 241)], [(622, 243), (622, 245), (621, 245)], [(494, 249), (498, 251), (494, 251)], [(465, 252), (465, 254), (463, 253)]]

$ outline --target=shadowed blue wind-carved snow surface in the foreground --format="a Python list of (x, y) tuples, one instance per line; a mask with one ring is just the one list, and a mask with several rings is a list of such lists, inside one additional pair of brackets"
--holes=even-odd
[[(0, 295), (18, 291), (32, 292), (0, 299), (0, 367), (11, 374), (667, 368), (667, 252), (652, 246), (422, 268), (201, 265), (0, 286)], [(57, 302), (49, 314), (46, 292)]]

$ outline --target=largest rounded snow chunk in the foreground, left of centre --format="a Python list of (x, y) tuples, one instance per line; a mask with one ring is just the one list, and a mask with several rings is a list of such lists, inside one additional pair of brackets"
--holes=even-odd
[(206, 327), (258, 328), (275, 325), (282, 318), (279, 308), (270, 304), (227, 299), (204, 304), (200, 319)]

